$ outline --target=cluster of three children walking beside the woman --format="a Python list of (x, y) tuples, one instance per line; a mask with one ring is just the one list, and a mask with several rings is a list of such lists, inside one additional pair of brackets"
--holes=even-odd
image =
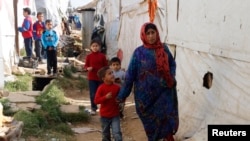
[(90, 43), (91, 53), (86, 56), (84, 69), (88, 71), (91, 101), (91, 115), (96, 114), (100, 104), (100, 121), (102, 140), (111, 140), (110, 129), (115, 141), (122, 141), (120, 118), (123, 118), (124, 102), (118, 103), (116, 97), (125, 79), (121, 69), (121, 60), (112, 58), (109, 63), (100, 52), (101, 41), (93, 39)]

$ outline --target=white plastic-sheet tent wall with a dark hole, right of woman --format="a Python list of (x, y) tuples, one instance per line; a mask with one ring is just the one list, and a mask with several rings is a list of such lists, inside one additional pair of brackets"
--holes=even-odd
[[(175, 44), (181, 140), (207, 140), (208, 124), (249, 124), (250, 2), (168, 1)], [(210, 89), (203, 76), (213, 74)]]

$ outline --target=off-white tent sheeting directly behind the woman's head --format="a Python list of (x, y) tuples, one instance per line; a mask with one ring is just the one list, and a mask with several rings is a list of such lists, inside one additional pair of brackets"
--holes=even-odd
[[(167, 38), (167, 4), (165, 0), (158, 0), (158, 10), (154, 23), (158, 26), (161, 41)], [(148, 2), (145, 0), (122, 0), (121, 18), (118, 35), (118, 48), (123, 52), (122, 66), (127, 67), (132, 52), (142, 44), (140, 39), (141, 26), (149, 22)], [(107, 29), (108, 30), (108, 29)]]

